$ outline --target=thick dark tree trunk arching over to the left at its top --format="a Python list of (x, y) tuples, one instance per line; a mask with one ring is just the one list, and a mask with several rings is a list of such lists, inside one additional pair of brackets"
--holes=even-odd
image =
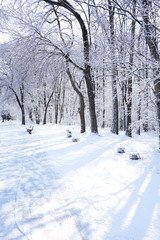
[(50, 0), (44, 0), (46, 3), (49, 3), (50, 5), (54, 6), (62, 6), (65, 9), (67, 9), (69, 12), (71, 12), (74, 17), (77, 19), (81, 32), (82, 32), (82, 38), (83, 38), (83, 52), (84, 52), (84, 78), (86, 81), (87, 86), (87, 94), (88, 94), (88, 101), (89, 101), (89, 112), (90, 112), (90, 121), (91, 121), (91, 132), (92, 133), (98, 133), (98, 127), (97, 127), (97, 118), (96, 118), (96, 111), (95, 111), (95, 93), (94, 93), (94, 82), (91, 77), (91, 66), (89, 64), (89, 40), (88, 40), (88, 31), (86, 29), (86, 26), (84, 24), (83, 19), (81, 16), (76, 12), (76, 10), (72, 7), (70, 3), (67, 1), (50, 1)]

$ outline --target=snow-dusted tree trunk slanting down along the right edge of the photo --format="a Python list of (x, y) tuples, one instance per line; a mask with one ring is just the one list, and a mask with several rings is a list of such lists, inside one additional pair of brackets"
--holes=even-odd
[[(156, 26), (150, 22), (149, 18), (150, 1), (142, 0), (143, 30), (146, 43), (149, 47), (154, 65), (154, 90), (156, 97), (156, 109), (159, 129), (159, 151), (160, 151), (160, 54), (156, 38)], [(151, 9), (152, 10), (152, 9)]]

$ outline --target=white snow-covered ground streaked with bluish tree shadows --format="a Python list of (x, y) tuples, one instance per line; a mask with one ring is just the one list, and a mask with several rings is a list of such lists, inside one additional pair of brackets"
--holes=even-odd
[(0, 240), (159, 240), (157, 147), (154, 135), (0, 123)]

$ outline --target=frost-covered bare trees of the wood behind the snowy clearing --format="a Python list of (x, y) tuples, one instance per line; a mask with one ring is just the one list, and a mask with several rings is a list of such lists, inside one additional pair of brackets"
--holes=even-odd
[(1, 0), (1, 101), (18, 103), (23, 124), (29, 116), (160, 138), (158, 0), (12, 4)]

